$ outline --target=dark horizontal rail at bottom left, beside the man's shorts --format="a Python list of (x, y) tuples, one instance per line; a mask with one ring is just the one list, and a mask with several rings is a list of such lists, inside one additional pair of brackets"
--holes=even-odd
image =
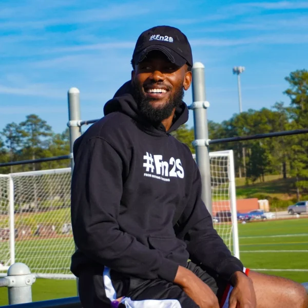
[(32, 303), (16, 304), (1, 306), (1, 308), (82, 308), (80, 299), (78, 296), (59, 298), (52, 300), (43, 300)]

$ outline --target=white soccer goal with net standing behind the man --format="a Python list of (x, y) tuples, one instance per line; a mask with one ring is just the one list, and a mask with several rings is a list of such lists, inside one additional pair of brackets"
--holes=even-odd
[[(233, 151), (209, 157), (214, 226), (239, 257)], [(36, 277), (75, 278), (70, 184), (71, 168), (0, 175), (0, 271), (23, 262)]]

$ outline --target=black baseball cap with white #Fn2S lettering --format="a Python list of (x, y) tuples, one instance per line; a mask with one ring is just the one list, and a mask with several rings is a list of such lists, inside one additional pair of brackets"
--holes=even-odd
[(187, 37), (179, 29), (170, 26), (157, 26), (140, 34), (132, 54), (132, 63), (142, 62), (153, 50), (163, 52), (171, 63), (181, 67), (192, 67), (191, 47)]

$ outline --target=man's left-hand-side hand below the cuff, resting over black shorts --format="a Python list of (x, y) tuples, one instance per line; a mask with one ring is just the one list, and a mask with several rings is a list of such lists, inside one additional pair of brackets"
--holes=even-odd
[(174, 282), (179, 284), (200, 308), (219, 308), (217, 296), (189, 269), (179, 266)]

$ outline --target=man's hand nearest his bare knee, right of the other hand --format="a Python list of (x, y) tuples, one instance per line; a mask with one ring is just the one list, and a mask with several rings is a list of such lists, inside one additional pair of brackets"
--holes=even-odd
[(229, 308), (256, 308), (256, 294), (252, 280), (242, 272), (233, 277), (234, 288), (229, 297)]

